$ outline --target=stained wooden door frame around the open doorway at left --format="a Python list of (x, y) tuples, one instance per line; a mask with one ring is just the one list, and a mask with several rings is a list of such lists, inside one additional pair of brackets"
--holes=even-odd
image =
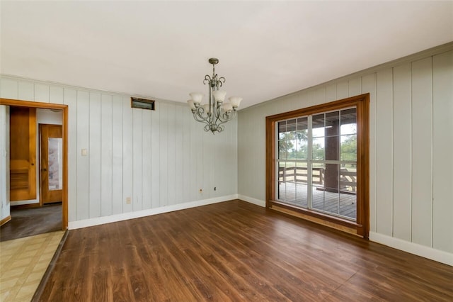
[(63, 111), (63, 196), (62, 196), (62, 230), (68, 228), (68, 105), (1, 99), (0, 105), (30, 107), (42, 109), (59, 109)]

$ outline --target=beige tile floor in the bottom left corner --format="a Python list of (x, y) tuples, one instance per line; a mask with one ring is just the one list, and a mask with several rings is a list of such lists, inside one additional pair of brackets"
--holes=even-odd
[(64, 231), (0, 242), (0, 301), (30, 301)]

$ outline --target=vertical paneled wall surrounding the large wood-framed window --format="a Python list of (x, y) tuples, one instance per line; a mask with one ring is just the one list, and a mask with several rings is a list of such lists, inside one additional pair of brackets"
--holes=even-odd
[(453, 253), (453, 50), (240, 111), (239, 195), (265, 201), (265, 117), (370, 94), (370, 228)]

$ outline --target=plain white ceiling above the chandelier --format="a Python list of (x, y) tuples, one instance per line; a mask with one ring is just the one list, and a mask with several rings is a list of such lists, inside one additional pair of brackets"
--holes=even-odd
[(1, 1), (0, 72), (241, 108), (453, 40), (453, 1)]

